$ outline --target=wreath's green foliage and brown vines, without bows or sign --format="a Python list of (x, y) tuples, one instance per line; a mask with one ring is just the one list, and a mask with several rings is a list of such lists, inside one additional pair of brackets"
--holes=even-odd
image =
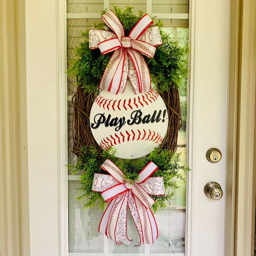
[[(145, 16), (141, 11), (134, 14), (131, 7), (126, 7), (125, 10), (122, 10), (114, 6), (113, 11), (123, 25), (126, 37), (135, 24)], [(101, 15), (105, 14), (107, 14), (107, 10), (101, 13)], [(94, 139), (90, 127), (90, 111), (95, 99), (101, 92), (99, 83), (112, 53), (103, 55), (99, 49), (91, 50), (89, 48), (89, 32), (81, 32), (84, 41), (79, 43), (79, 46), (75, 49), (77, 59), (72, 62), (71, 67), (67, 70), (68, 75), (73, 75), (76, 78), (75, 85), (77, 85), (77, 92), (72, 98), (74, 106), (72, 152), (78, 158), (75, 165), (67, 165), (67, 167), (71, 169), (73, 174), (77, 172), (82, 173), (80, 176), (80, 194), (77, 199), (85, 200), (85, 207), (93, 207), (95, 203), (98, 203), (100, 208), (105, 206), (107, 200), (101, 195), (104, 191), (92, 191), (92, 186), (94, 186), (96, 181), (95, 174), (109, 175), (108, 169), (103, 167), (106, 161), (110, 161), (111, 165), (113, 164), (111, 166), (112, 169), (120, 170), (121, 177), (126, 184), (130, 185), (134, 185), (134, 181), (138, 179), (140, 171), (153, 162), (157, 168), (154, 169), (153, 173), (150, 173), (149, 177), (161, 177), (164, 186), (163, 190), (165, 191), (177, 189), (174, 178), (184, 181), (185, 178), (179, 174), (179, 171), (189, 170), (188, 167), (179, 165), (181, 154), (175, 153), (178, 130), (182, 125), (178, 87), (182, 79), (187, 75), (184, 55), (187, 54), (188, 48), (182, 48), (177, 42), (172, 41), (170, 36), (163, 32), (163, 23), (161, 21), (157, 21), (155, 25), (158, 26), (162, 44), (155, 49), (153, 58), (145, 57), (144, 59), (149, 68), (151, 86), (159, 93), (167, 107), (168, 132), (159, 146), (155, 147), (145, 157), (136, 160), (120, 159), (116, 157), (117, 150), (113, 146), (102, 150)], [(149, 28), (152, 26), (153, 24)], [(113, 32), (105, 23), (94, 24), (94, 28), (96, 30)], [(170, 200), (173, 194), (173, 192), (168, 192), (167, 194), (152, 193), (151, 198), (154, 200), (154, 203), (150, 206), (153, 212), (165, 207), (165, 201)], [(110, 231), (109, 238), (111, 238)], [(122, 240), (122, 238), (120, 239)], [(115, 241), (117, 242), (117, 239)], [(125, 239), (121, 242), (125, 243), (124, 241)], [(143, 238), (141, 241), (144, 241)], [(117, 243), (120, 243), (120, 241)]]

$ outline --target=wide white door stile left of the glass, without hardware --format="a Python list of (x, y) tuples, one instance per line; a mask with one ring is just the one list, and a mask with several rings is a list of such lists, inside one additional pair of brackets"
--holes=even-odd
[(30, 254), (67, 255), (65, 1), (25, 0)]

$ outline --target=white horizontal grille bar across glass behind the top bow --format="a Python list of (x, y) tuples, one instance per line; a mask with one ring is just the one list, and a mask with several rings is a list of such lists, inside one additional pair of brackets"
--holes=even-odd
[[(152, 13), (158, 19), (188, 19), (188, 13)], [(100, 13), (67, 13), (68, 19), (100, 19)]]

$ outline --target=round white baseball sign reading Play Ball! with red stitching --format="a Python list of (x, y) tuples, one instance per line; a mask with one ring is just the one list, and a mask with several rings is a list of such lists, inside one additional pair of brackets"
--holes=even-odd
[(102, 91), (97, 96), (91, 107), (90, 127), (103, 150), (112, 146), (119, 158), (140, 158), (161, 144), (166, 135), (166, 105), (153, 89), (136, 95), (127, 81), (122, 94)]

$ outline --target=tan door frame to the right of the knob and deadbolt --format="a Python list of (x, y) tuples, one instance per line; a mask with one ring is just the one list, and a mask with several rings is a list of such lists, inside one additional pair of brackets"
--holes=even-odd
[(225, 255), (254, 255), (256, 2), (231, 1)]

